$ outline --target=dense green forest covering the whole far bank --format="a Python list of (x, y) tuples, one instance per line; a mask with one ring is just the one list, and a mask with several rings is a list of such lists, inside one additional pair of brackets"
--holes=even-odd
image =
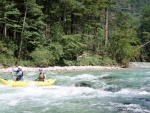
[(150, 62), (150, 0), (0, 0), (0, 66)]

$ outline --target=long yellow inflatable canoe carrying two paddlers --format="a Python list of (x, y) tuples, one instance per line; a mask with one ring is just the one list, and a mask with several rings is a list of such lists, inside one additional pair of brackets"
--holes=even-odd
[(5, 80), (0, 78), (0, 82), (4, 85), (12, 87), (23, 87), (23, 86), (51, 86), (55, 83), (56, 79), (48, 79), (45, 81), (13, 81)]

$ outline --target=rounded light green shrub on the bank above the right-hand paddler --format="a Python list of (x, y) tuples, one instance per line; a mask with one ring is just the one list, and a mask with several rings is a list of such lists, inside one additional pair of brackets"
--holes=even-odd
[(31, 53), (33, 62), (37, 66), (55, 65), (63, 54), (59, 44), (49, 44), (48, 47), (40, 46)]

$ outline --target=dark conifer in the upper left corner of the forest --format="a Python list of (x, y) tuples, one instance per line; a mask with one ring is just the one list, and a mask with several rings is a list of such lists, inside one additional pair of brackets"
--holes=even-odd
[(15, 8), (13, 2), (3, 1), (0, 4), (2, 6), (0, 8), (0, 26), (3, 29), (2, 33), (5, 37), (12, 35), (15, 39), (16, 32), (19, 32), (21, 27), (17, 21), (20, 16), (20, 11)]

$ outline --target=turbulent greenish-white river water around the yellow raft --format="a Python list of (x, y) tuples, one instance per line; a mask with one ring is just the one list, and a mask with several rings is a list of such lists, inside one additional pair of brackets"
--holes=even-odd
[[(0, 84), (0, 113), (150, 113), (150, 69), (46, 74), (57, 79), (53, 86)], [(33, 80), (38, 73), (24, 76)]]

